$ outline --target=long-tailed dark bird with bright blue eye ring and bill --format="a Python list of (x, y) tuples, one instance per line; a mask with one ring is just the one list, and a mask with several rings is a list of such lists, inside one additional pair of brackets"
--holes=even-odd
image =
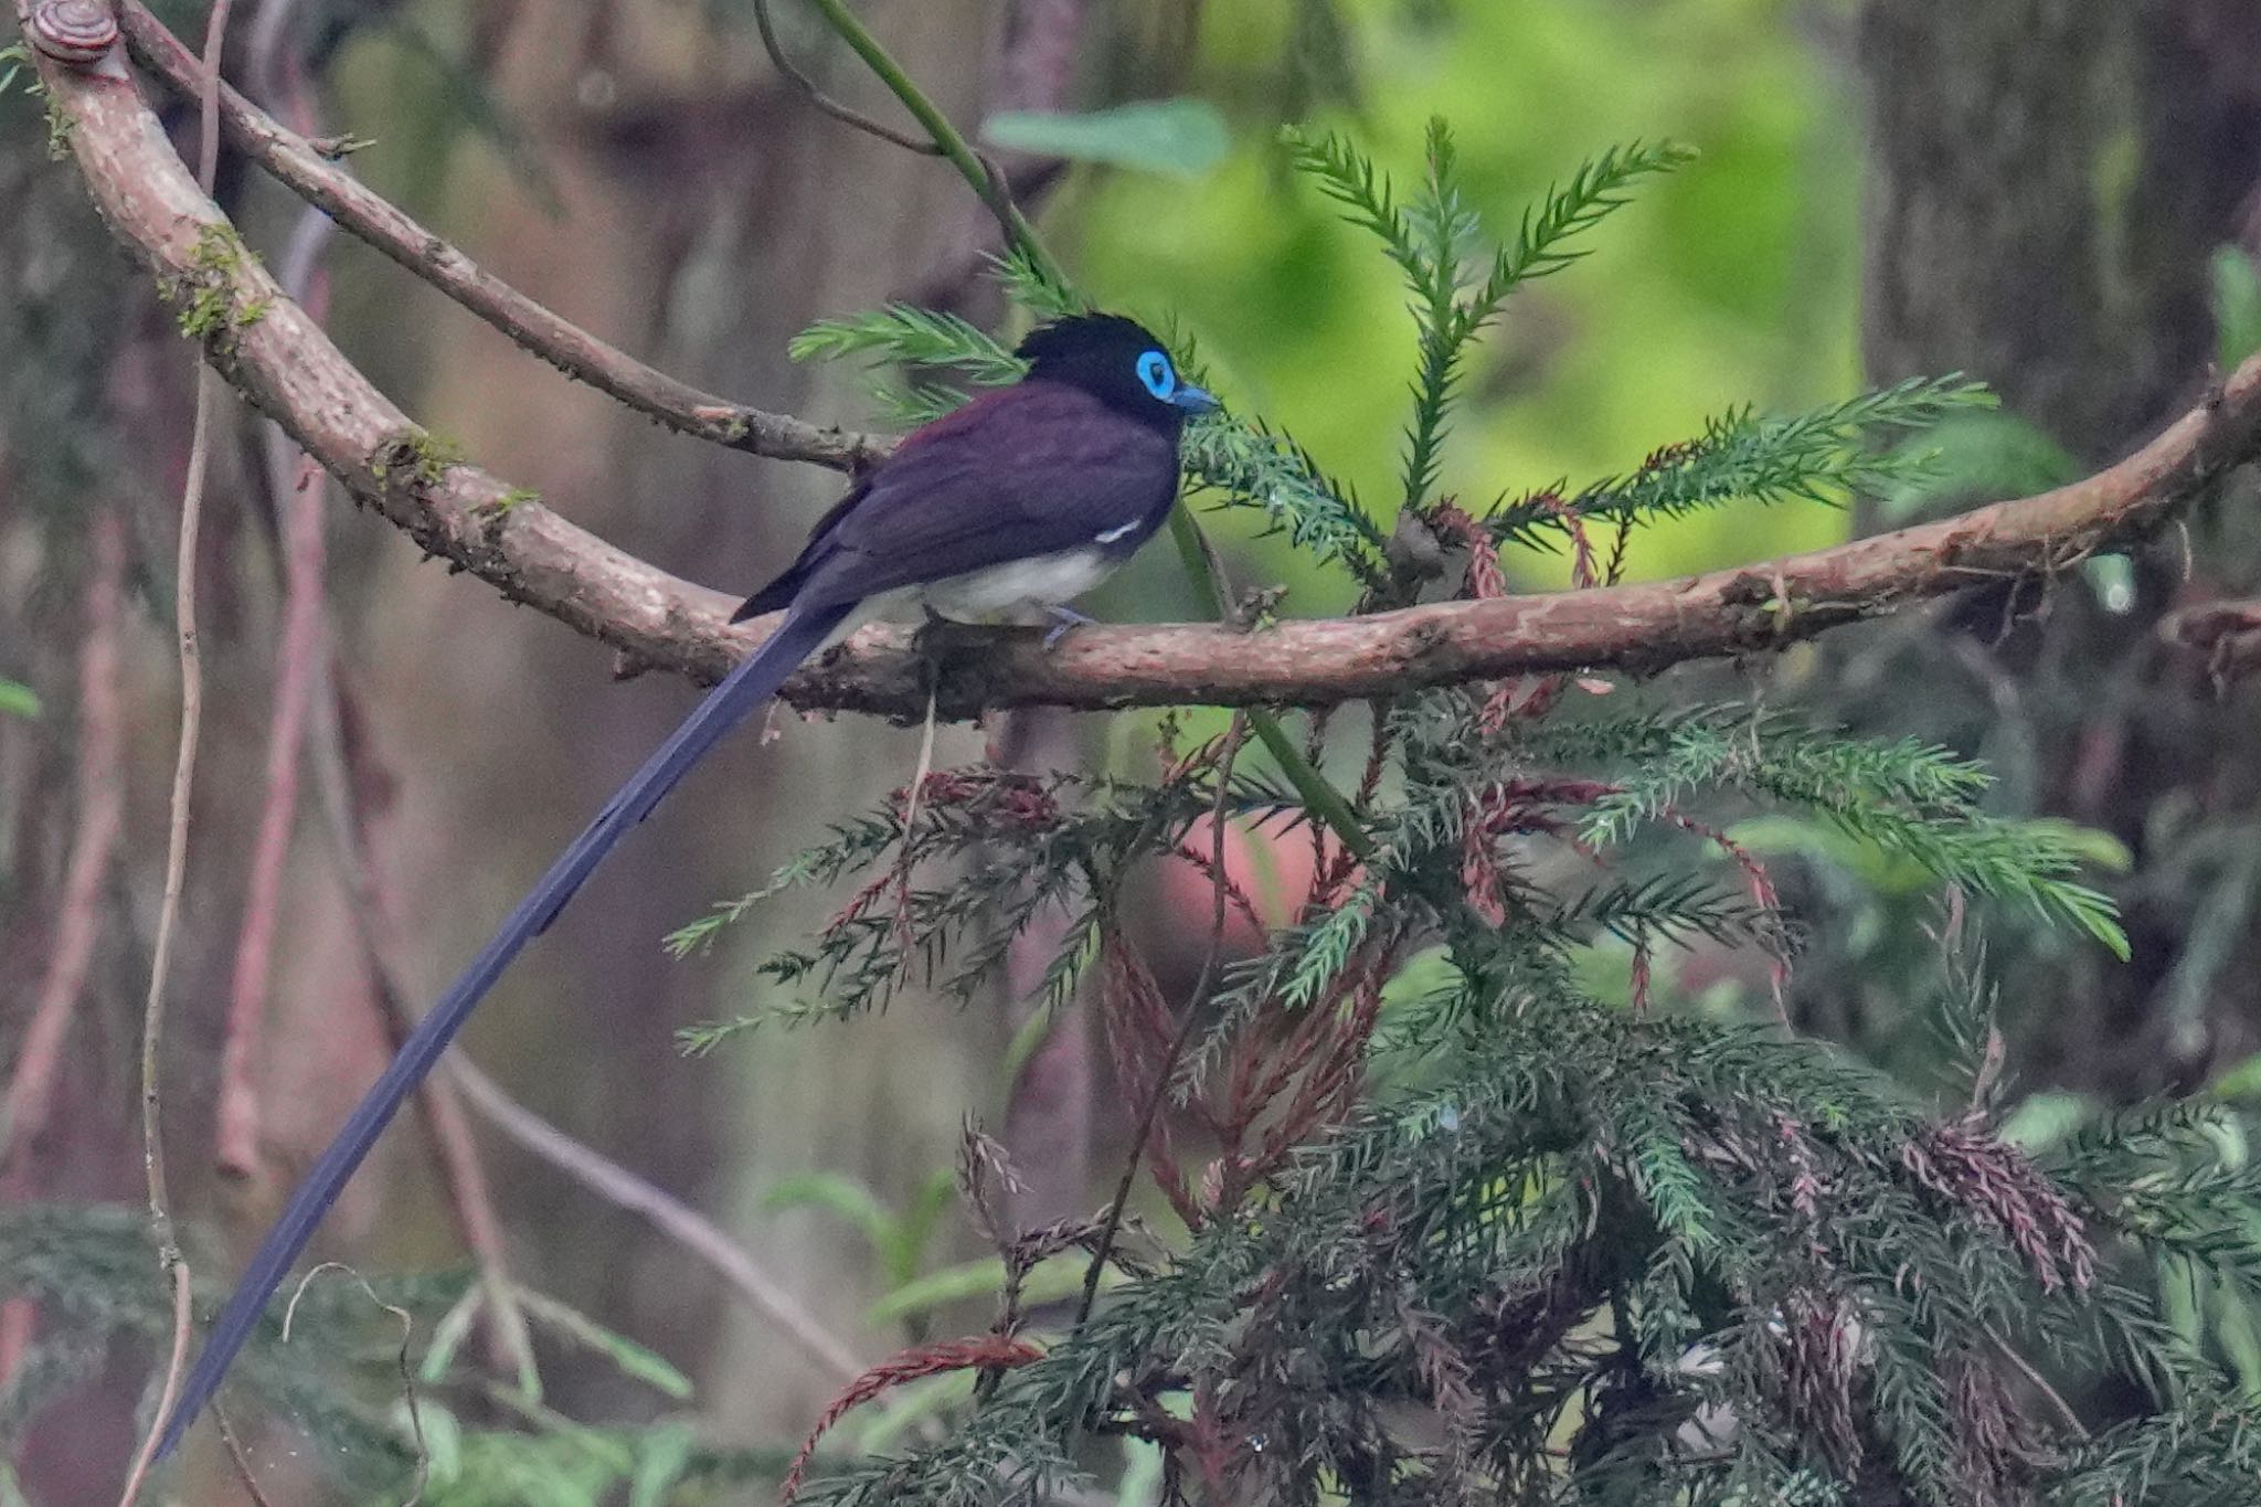
[(733, 624), (782, 617), (518, 901), (346, 1116), (251, 1254), (165, 1419), (158, 1457), (213, 1401), (314, 1227), (473, 1005), (613, 845), (803, 660), (904, 599), (947, 621), (1049, 624), (1047, 642), (1090, 621), (1067, 603), (1162, 526), (1178, 497), (1185, 423), (1219, 402), (1119, 314), (1054, 319), (1017, 355), (1026, 364), (1017, 382), (907, 434), (816, 522), (794, 563), (737, 608)]

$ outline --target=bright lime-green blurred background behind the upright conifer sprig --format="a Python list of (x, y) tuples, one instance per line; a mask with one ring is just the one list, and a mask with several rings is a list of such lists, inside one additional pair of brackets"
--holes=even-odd
[[(1580, 267), (1524, 289), (1485, 339), (1445, 468), (1470, 506), (1630, 470), (1734, 404), (1791, 411), (1859, 386), (1859, 120), (1852, 79), (1791, 25), (1816, 7), (1363, 0), (1336, 34), (1307, 9), (1214, 7), (1189, 86), (1228, 113), (1232, 156), (1192, 185), (1110, 176), (1067, 228), (1103, 298), (1180, 314), (1237, 402), (1363, 495), (1391, 495), (1411, 319), (1397, 271), (1271, 140), (1298, 66), (1350, 93), (1320, 93), (1311, 127), (1352, 133), (1406, 185), (1429, 117), (1449, 120), (1470, 206), (1499, 239), (1612, 145), (1703, 154), (1644, 185)], [(1788, 554), (1845, 526), (1820, 508), (1725, 508), (1644, 531), (1632, 569)], [(1510, 567), (1567, 581), (1562, 558)]]

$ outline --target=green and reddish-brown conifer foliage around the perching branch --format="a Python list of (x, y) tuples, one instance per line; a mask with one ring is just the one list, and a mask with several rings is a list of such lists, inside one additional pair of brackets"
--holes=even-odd
[[(1687, 154), (1596, 158), (1504, 246), (1465, 208), (1443, 124), (1411, 192), (1341, 138), (1296, 136), (1289, 156), (1404, 273), (1393, 508), (1452, 560), (1449, 590), (1497, 594), (1501, 547), (1562, 547), (1578, 583), (1603, 583), (1648, 520), (1902, 484), (1924, 450), (1881, 441), (1990, 402), (1944, 377), (1813, 413), (1736, 409), (1619, 477), (1467, 508), (1443, 493), (1443, 452), (1470, 341)], [(1013, 375), (988, 337), (904, 310), (807, 350)], [(1207, 420), (1187, 468), (1214, 506), (1262, 508), (1359, 574), (1370, 603), (1422, 590), (1377, 513), (1291, 441)], [(1311, 761), (1361, 770), (1354, 836), (1239, 759), (1235, 732), (1180, 748), (1164, 730), (1151, 782), (943, 770), (778, 874), (857, 886), (771, 962), (796, 1012), (884, 1003), (911, 978), (965, 994), (1004, 935), (1069, 913), (1051, 994), (1085, 983), (1128, 1089), (1173, 1075), (1149, 1166), (1183, 1225), (1126, 1236), (1081, 1322), (1006, 1304), (995, 1338), (1026, 1349), (968, 1362), (981, 1383), (943, 1441), (812, 1473), (800, 1500), (1054, 1500), (1106, 1480), (1108, 1437), (1160, 1453), (1167, 1498), (1212, 1502), (2261, 1498), (2252, 1414), (2148, 1290), (2155, 1263), (2261, 1274), (2243, 1247), (2254, 1175), (2198, 1112), (2046, 1161), (1999, 1134), (1978, 917), (2010, 906), (2125, 951), (2071, 838), (1987, 813), (1985, 770), (1940, 748), (1589, 694), (1605, 689), (1406, 696), (1375, 707), (1354, 761), (1329, 759), (1350, 718), (1314, 718)], [(1958, 1094), (1924, 1100), (1793, 1039), (1764, 992), (1757, 1021), (1662, 996), (1660, 949), (1748, 949), (1775, 990), (1795, 965), (1800, 922), (1732, 834), (1755, 807), (1935, 879)], [(1178, 1053), (1119, 906), (1142, 865), (1178, 856), (1257, 922), (1207, 863), (1216, 818), (1307, 829), (1314, 881), (1221, 972)], [(1617, 1003), (1596, 999), (1599, 958), (1623, 969)], [(2091, 1430), (2051, 1378), (2146, 1401)]]

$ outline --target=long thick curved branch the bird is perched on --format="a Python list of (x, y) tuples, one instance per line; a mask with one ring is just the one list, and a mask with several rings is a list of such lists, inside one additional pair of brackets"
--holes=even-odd
[[(728, 596), (687, 585), (577, 529), (473, 465), (441, 463), (305, 314), (235, 246), (131, 88), (47, 68), (95, 201), (120, 239), (183, 296), (224, 296), (203, 330), (215, 366), (364, 504), (423, 549), (638, 664), (717, 680), (753, 642)], [(215, 246), (219, 253), (215, 253)], [(954, 657), (947, 714), (984, 705), (1329, 705), (1422, 685), (1775, 648), (1978, 581), (2048, 576), (2168, 522), (2229, 465), (2261, 454), (2261, 359), (2139, 454), (2039, 497), (1764, 567), (1651, 585), (1458, 601), (1264, 633), (1088, 628), (1056, 651), (997, 642)], [(925, 669), (900, 630), (866, 630), (787, 685), (798, 707), (913, 718)]]

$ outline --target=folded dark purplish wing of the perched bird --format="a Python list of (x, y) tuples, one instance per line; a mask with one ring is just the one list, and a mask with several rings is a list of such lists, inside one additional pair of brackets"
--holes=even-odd
[(1081, 389), (1022, 382), (907, 438), (809, 542), (794, 599), (834, 606), (1094, 542), (1121, 547), (1160, 526), (1176, 490), (1169, 434)]

